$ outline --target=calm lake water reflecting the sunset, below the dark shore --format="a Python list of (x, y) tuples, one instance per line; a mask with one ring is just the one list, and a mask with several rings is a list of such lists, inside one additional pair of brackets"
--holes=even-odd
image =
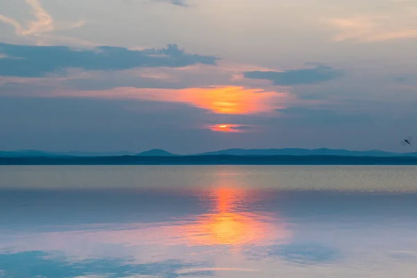
[(0, 167), (0, 277), (414, 277), (414, 166)]

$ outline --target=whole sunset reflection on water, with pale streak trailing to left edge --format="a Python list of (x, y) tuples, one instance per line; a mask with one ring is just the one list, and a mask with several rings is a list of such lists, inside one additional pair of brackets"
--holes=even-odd
[(220, 179), (211, 188), (193, 194), (201, 206), (209, 204), (206, 213), (163, 222), (87, 224), (67, 231), (19, 237), (11, 244), (21, 251), (63, 250), (66, 254), (88, 257), (90, 252), (95, 253), (95, 246), (101, 245), (117, 245), (122, 249), (223, 246), (233, 252), (245, 246), (286, 243), (291, 239), (291, 229), (275, 212), (256, 211), (265, 201), (265, 194), (244, 188), (234, 176), (219, 173), (217, 177)]

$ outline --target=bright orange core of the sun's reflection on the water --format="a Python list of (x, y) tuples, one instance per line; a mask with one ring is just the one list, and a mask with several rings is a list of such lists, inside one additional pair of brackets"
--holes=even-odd
[(180, 227), (179, 233), (192, 245), (241, 247), (285, 240), (291, 235), (284, 222), (251, 212), (248, 205), (254, 201), (253, 195), (243, 188), (220, 187), (208, 195), (213, 200), (213, 213), (199, 215), (195, 223)]

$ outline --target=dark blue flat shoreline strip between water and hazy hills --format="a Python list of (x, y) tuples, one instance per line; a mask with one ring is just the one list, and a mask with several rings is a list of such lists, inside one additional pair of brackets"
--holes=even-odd
[(417, 165), (416, 156), (35, 156), (0, 165)]

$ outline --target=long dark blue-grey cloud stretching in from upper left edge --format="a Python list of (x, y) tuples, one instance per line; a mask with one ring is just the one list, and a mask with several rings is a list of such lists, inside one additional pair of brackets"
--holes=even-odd
[(131, 50), (101, 46), (92, 50), (0, 43), (0, 76), (41, 77), (65, 68), (84, 70), (127, 70), (134, 67), (184, 67), (203, 63), (215, 65), (213, 56), (187, 54), (177, 44), (163, 49)]

